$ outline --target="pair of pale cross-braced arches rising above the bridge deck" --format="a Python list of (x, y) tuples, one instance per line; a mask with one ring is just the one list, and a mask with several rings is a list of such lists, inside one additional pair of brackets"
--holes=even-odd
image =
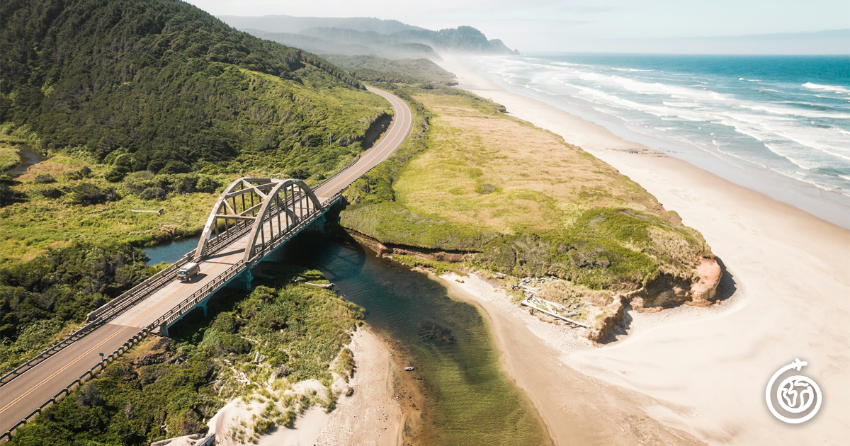
[(248, 234), (243, 256), (247, 263), (258, 248), (286, 234), (314, 212), (324, 212), (324, 207), (301, 180), (239, 178), (224, 189), (212, 206), (195, 258), (200, 259), (220, 243)]

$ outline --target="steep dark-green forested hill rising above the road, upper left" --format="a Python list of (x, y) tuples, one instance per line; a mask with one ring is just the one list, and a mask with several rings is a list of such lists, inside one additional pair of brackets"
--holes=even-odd
[(376, 115), (326, 61), (178, 0), (8, 0), (0, 20), (4, 129), (122, 171), (258, 152), (295, 162), (315, 148), (332, 159), (357, 151), (347, 147)]

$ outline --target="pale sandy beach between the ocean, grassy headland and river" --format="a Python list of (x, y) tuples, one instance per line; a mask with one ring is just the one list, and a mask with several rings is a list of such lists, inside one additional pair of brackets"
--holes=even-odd
[[(451, 285), (490, 317), (507, 371), (558, 444), (840, 444), (850, 440), (850, 231), (590, 121), (511, 93), (451, 56), (465, 88), (608, 162), (700, 230), (726, 268), (715, 308), (633, 314), (604, 347), (534, 329)], [(850, 215), (848, 215), (850, 218)], [(475, 280), (467, 280), (475, 283)], [(495, 299), (495, 300), (494, 300)], [(788, 425), (764, 401), (771, 375), (795, 358), (823, 392), (819, 414)]]

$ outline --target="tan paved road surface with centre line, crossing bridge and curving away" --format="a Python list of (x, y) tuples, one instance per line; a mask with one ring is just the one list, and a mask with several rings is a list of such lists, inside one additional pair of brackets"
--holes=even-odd
[[(354, 180), (360, 178), (372, 167), (387, 159), (394, 150), (404, 143), (411, 132), (413, 115), (410, 107), (393, 94), (376, 88), (369, 88), (393, 105), (395, 116), (388, 130), (377, 144), (366, 150), (354, 165), (348, 167), (336, 177), (314, 190), (319, 200), (324, 202), (337, 192), (345, 189)], [(201, 222), (202, 223), (202, 222)], [(270, 230), (266, 229), (264, 230)], [(275, 232), (277, 232), (275, 230)], [(267, 232), (267, 234), (269, 234)], [(150, 325), (163, 314), (175, 308), (187, 296), (212, 282), (230, 266), (238, 263), (248, 243), (248, 236), (234, 240), (201, 263), (201, 277), (191, 283), (178, 280), (163, 286), (152, 295), (144, 298), (133, 308), (127, 309), (112, 319), (109, 324), (101, 325), (88, 336), (83, 337), (59, 353), (37, 364), (22, 375), (0, 387), (0, 433), (8, 431), (18, 421), (29, 415), (44, 402), (76, 380), (80, 375), (98, 364), (99, 353), (109, 355), (124, 342), (133, 337), (140, 329)]]

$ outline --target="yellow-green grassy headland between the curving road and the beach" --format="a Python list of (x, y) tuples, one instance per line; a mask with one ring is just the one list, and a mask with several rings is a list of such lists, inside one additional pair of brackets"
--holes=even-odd
[(468, 93), (407, 92), (428, 110), (427, 148), (397, 161), (391, 193), (349, 192), (343, 226), (388, 243), (475, 252), (477, 268), (555, 275), (587, 296), (689, 283), (700, 257), (711, 257), (675, 212), (558, 135)]

